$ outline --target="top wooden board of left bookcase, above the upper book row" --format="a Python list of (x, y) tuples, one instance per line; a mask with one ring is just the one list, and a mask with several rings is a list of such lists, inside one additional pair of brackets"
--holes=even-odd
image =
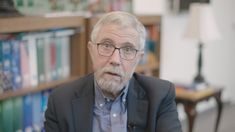
[(80, 16), (0, 18), (0, 33), (79, 27), (85, 24)]

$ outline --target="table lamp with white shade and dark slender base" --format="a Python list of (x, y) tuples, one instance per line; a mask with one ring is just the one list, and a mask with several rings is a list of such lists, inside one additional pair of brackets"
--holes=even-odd
[(210, 4), (192, 3), (190, 4), (189, 11), (189, 22), (184, 36), (198, 41), (198, 66), (194, 83), (206, 83), (201, 73), (203, 45), (206, 42), (218, 40), (221, 36), (217, 29)]

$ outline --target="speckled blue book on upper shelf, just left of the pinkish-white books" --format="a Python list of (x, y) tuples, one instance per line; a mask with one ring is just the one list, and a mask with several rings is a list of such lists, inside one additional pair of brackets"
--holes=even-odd
[(11, 71), (12, 71), (12, 85), (13, 89), (21, 88), (21, 67), (20, 67), (20, 41), (12, 40), (11, 41)]

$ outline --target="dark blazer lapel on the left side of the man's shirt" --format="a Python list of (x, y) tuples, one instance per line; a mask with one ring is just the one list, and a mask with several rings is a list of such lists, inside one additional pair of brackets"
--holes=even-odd
[[(89, 82), (89, 83), (88, 83)], [(89, 79), (82, 90), (77, 91), (77, 98), (72, 100), (73, 119), (76, 132), (92, 132), (94, 80)]]

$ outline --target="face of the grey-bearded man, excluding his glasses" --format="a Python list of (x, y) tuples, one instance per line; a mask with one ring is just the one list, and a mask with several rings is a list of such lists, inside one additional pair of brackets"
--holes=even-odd
[[(120, 28), (110, 24), (101, 28), (94, 43), (112, 44), (116, 48), (132, 47), (140, 48), (139, 35), (132, 28)], [(119, 50), (115, 50), (110, 57), (98, 53), (97, 45), (89, 42), (89, 52), (93, 62), (95, 79), (102, 90), (118, 94), (131, 78), (143, 52), (137, 52), (132, 60), (120, 57)]]

